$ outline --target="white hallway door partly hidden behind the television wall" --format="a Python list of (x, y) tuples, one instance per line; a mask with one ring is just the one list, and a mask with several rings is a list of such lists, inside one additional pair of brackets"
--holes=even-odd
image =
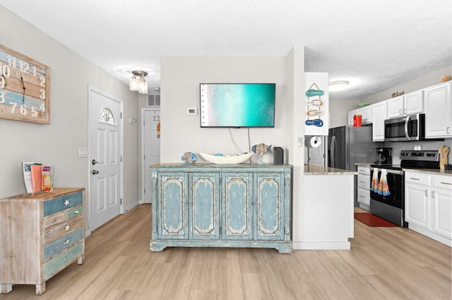
[(160, 109), (145, 108), (141, 113), (143, 127), (141, 127), (141, 144), (143, 145), (143, 203), (152, 203), (152, 182), (149, 166), (160, 163)]

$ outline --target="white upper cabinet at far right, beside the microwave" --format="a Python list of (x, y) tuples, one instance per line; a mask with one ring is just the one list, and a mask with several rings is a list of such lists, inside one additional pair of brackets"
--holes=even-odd
[(451, 82), (424, 89), (425, 137), (452, 137)]

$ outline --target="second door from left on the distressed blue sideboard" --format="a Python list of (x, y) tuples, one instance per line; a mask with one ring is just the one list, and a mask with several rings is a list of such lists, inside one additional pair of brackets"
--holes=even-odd
[(191, 238), (218, 239), (218, 174), (193, 174), (191, 180)]

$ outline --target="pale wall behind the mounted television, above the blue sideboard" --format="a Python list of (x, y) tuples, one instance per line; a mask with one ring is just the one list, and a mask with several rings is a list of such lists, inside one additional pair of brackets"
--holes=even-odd
[[(181, 163), (185, 151), (196, 154), (235, 154), (228, 129), (201, 128), (198, 115), (199, 83), (276, 83), (275, 128), (251, 128), (251, 146), (265, 143), (287, 149), (285, 57), (165, 57), (161, 60), (161, 146), (162, 163)], [(247, 129), (231, 129), (243, 152), (249, 151)], [(198, 156), (201, 162), (203, 159)], [(253, 156), (258, 161), (258, 155)], [(264, 156), (273, 162), (273, 156)], [(205, 161), (204, 161), (205, 162)]]

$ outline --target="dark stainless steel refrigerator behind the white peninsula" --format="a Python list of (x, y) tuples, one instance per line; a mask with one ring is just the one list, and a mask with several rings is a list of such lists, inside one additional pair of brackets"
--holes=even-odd
[[(374, 163), (376, 148), (382, 142), (372, 142), (372, 126), (340, 126), (328, 130), (328, 167), (356, 171), (356, 163)], [(355, 206), (357, 202), (355, 176)], [(370, 188), (370, 187), (369, 187)]]

